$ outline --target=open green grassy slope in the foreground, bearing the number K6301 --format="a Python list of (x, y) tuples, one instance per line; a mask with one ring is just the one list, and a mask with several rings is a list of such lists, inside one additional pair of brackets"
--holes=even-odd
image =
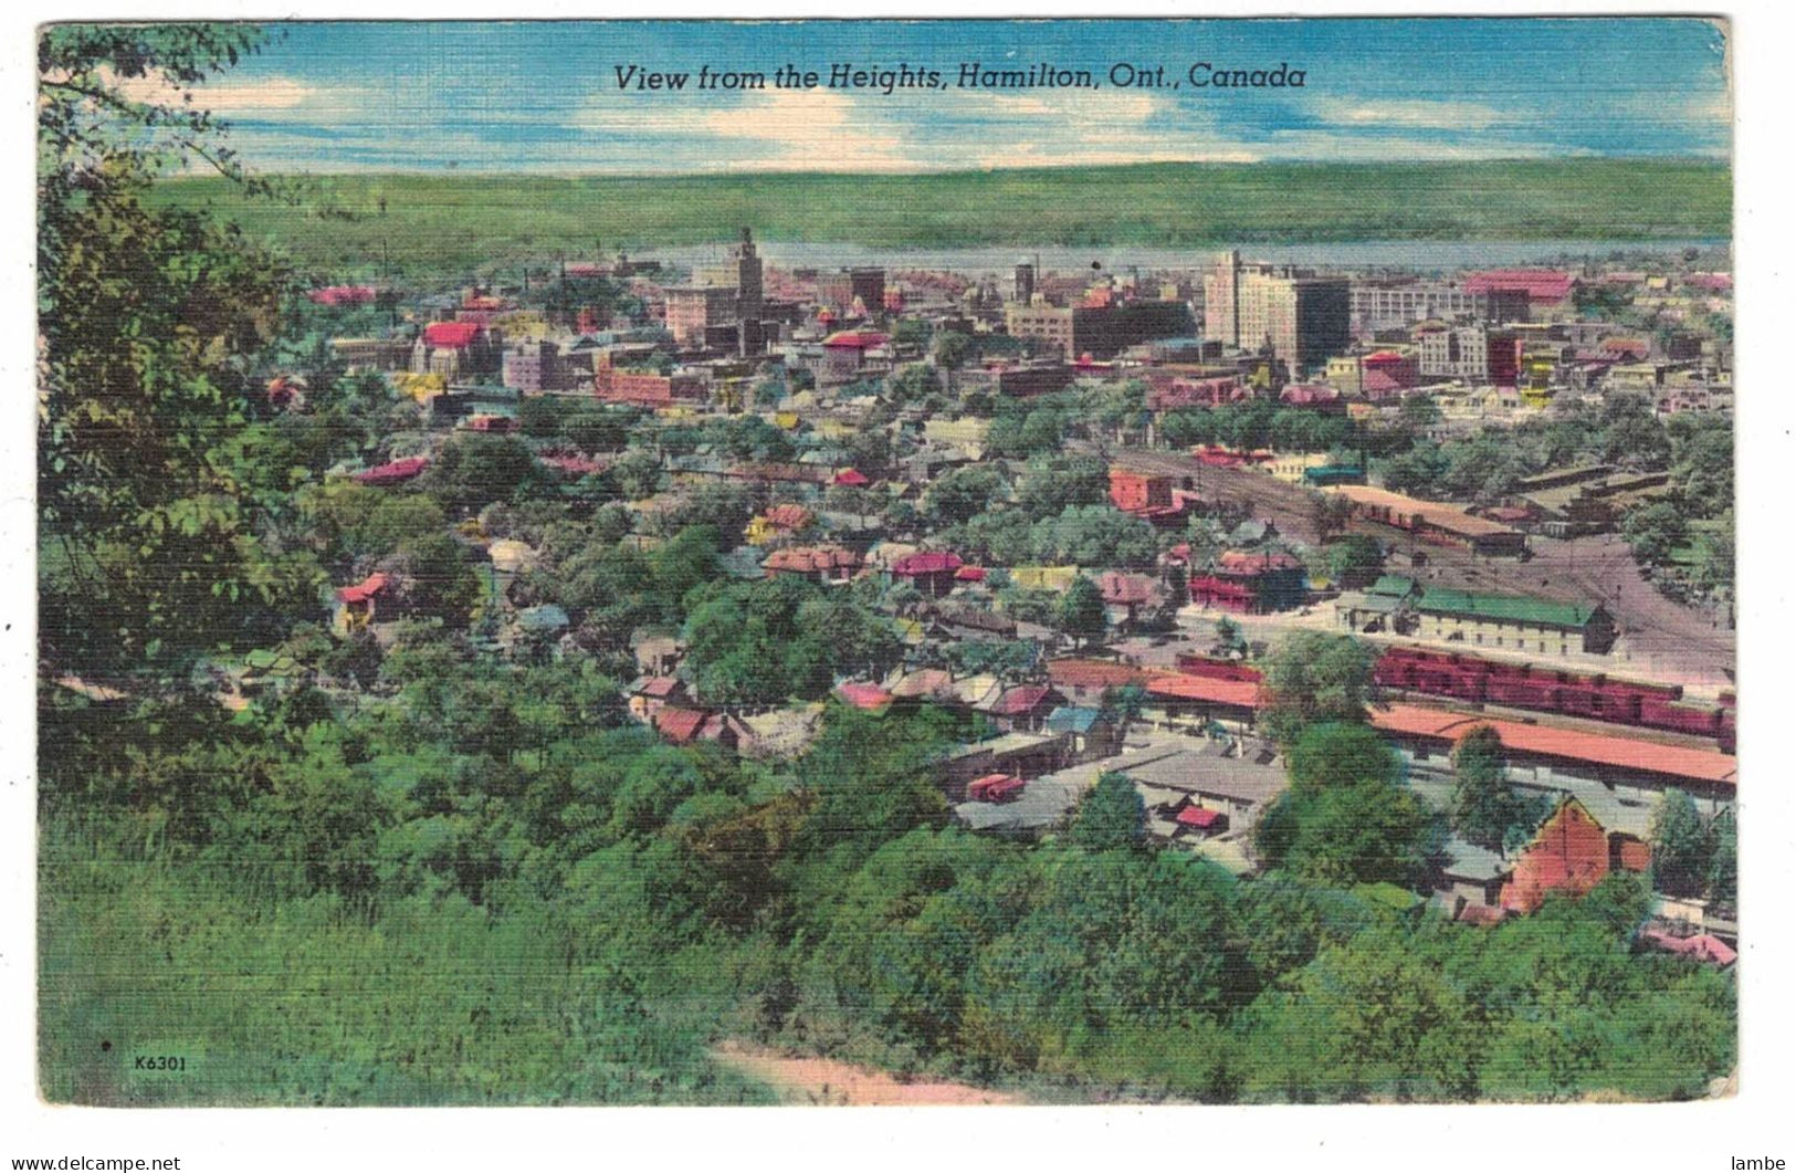
[[(708, 1054), (729, 977), (668, 950), (647, 1013), (541, 916), (330, 896), (120, 859), (50, 826), (38, 909), (40, 1092), (97, 1107), (765, 1103)], [(241, 873), (241, 868), (232, 868)], [(647, 948), (647, 947), (645, 947)], [(677, 992), (686, 997), (677, 997)], [(136, 1056), (180, 1056), (176, 1072)]]

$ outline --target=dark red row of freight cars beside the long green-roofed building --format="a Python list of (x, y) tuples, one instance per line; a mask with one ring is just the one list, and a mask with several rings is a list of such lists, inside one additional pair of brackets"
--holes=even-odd
[(1451, 697), (1473, 704), (1503, 704), (1541, 713), (1563, 713), (1643, 729), (1712, 736), (1733, 753), (1735, 710), (1683, 699), (1681, 684), (1645, 684), (1606, 674), (1568, 672), (1541, 665), (1512, 665), (1462, 652), (1399, 647), (1379, 656), (1372, 681), (1381, 688)]

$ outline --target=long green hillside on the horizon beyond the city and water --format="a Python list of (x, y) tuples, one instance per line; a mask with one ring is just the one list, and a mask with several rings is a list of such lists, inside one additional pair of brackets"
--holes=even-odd
[[(1157, 244), (1731, 235), (1731, 176), (1694, 160), (1480, 163), (1146, 163), (927, 176), (323, 176), (350, 223), (248, 203), (219, 180), (165, 198), (212, 205), (321, 271), (467, 271), (555, 251), (695, 244), (753, 225), (770, 241), (873, 246)], [(386, 198), (386, 214), (377, 201)]]

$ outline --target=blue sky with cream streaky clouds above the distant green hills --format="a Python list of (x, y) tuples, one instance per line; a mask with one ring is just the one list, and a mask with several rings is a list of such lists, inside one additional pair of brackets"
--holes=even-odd
[[(957, 171), (1730, 151), (1701, 20), (296, 23), (198, 93), (268, 171)], [(614, 66), (936, 68), (943, 90), (625, 92)], [(1164, 88), (961, 90), (963, 61)], [(1304, 88), (1189, 84), (1302, 68)], [(1180, 81), (1176, 90), (1173, 81)]]

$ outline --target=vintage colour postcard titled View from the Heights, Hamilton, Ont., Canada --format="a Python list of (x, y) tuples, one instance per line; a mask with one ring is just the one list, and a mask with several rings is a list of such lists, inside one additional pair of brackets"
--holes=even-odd
[(1735, 1094), (1726, 20), (36, 38), (45, 1101)]

